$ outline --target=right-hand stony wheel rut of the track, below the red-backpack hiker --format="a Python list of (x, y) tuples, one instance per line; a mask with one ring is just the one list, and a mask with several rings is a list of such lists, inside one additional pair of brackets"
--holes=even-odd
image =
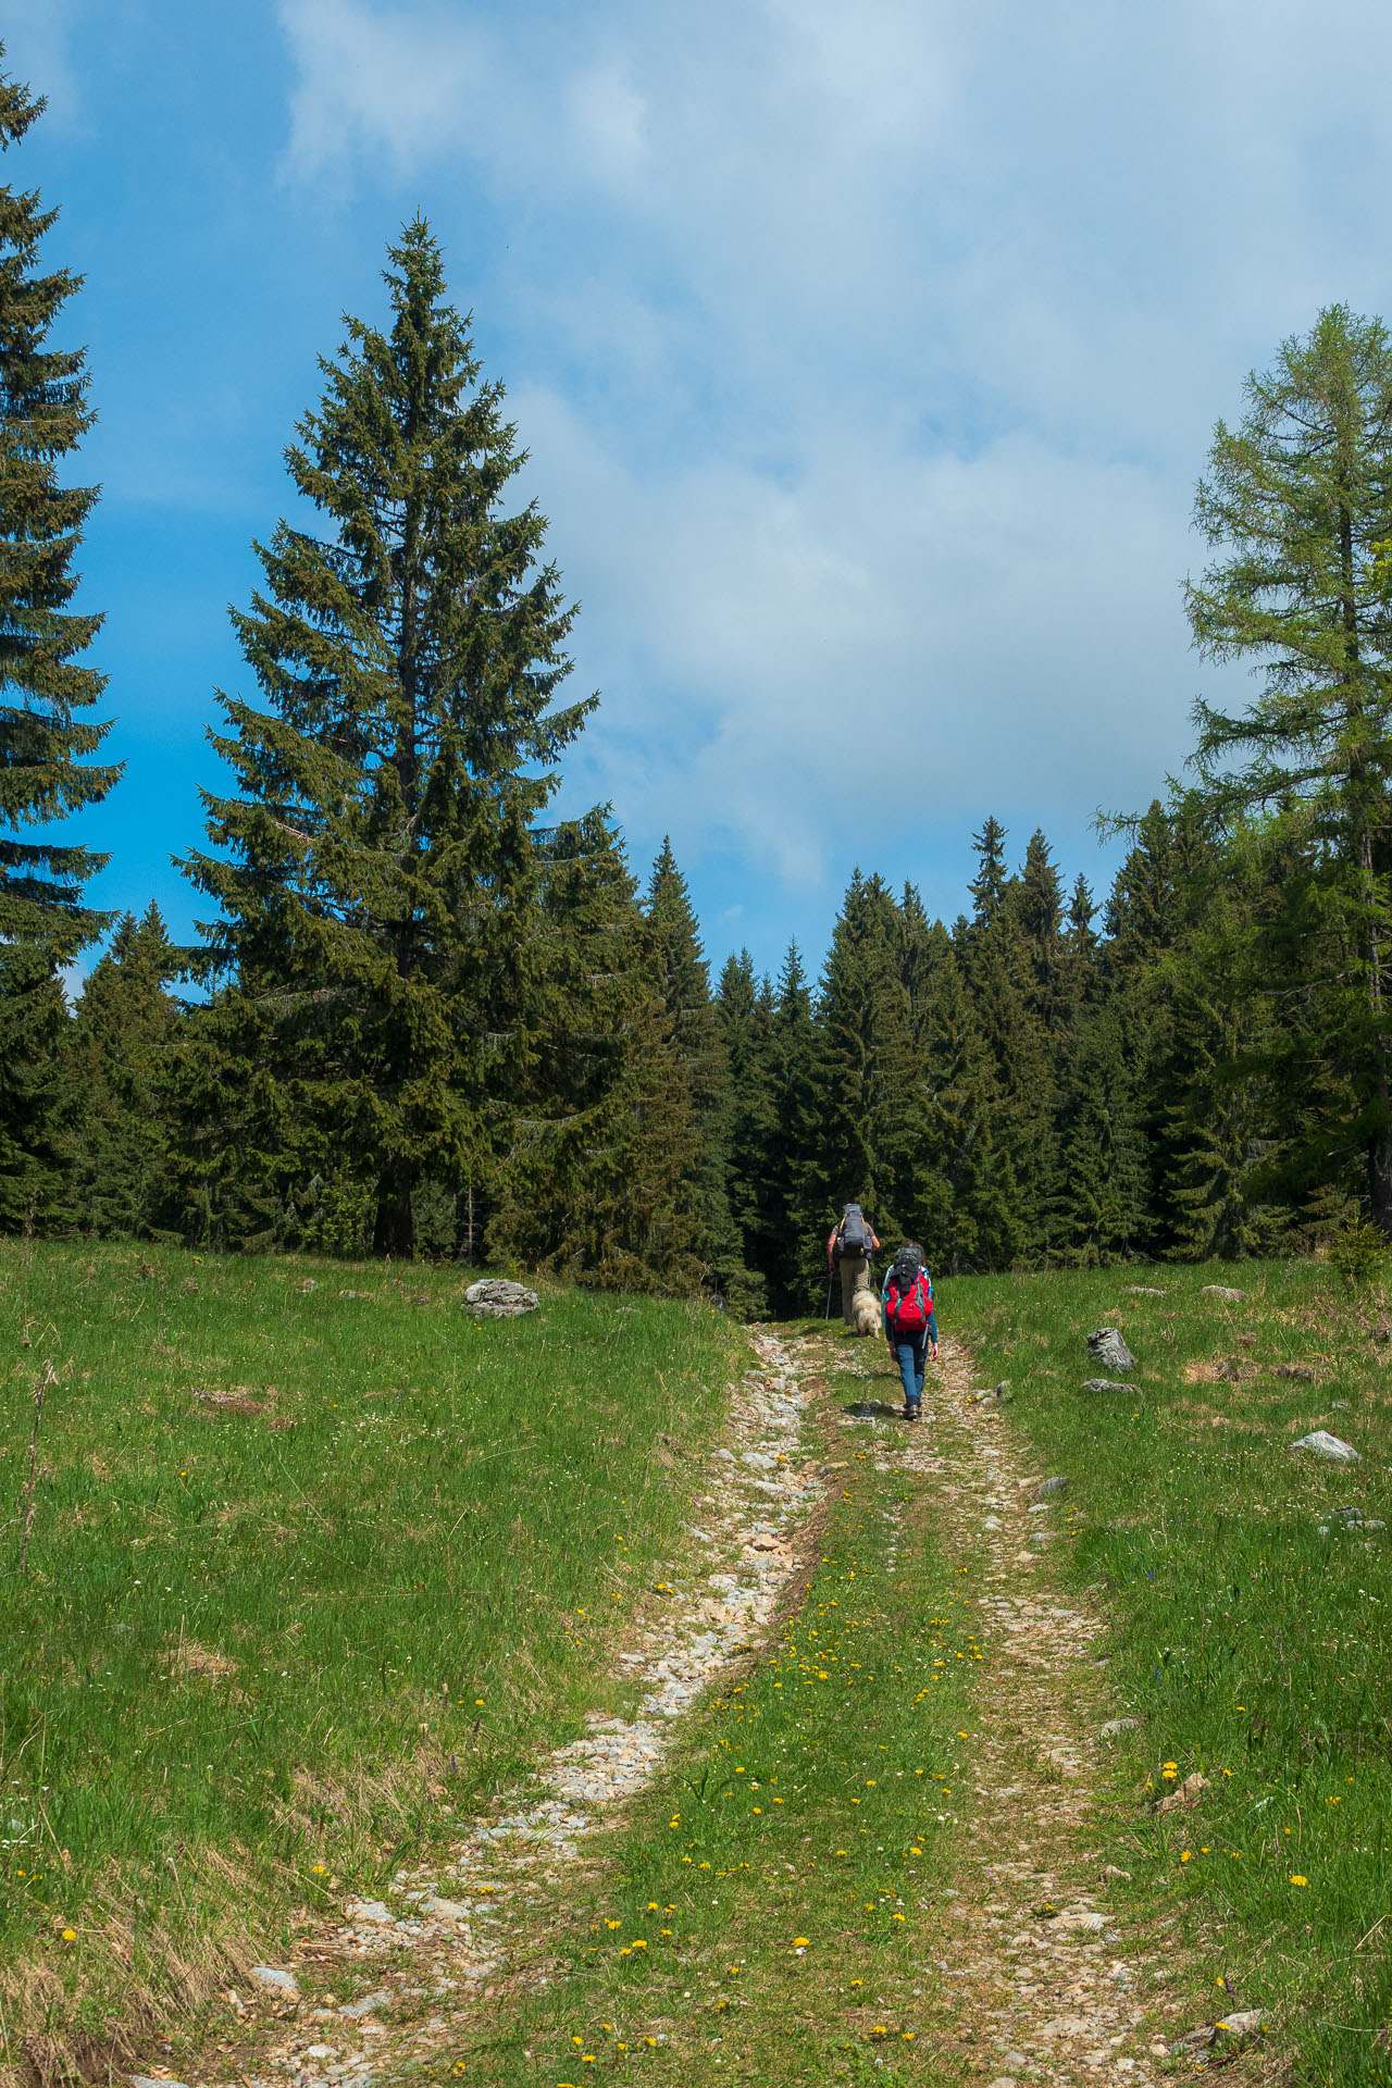
[[(889, 1401), (883, 1351), (860, 1351), (866, 1391)], [(1050, 1549), (1073, 1522), (1066, 1487), (1037, 1472), (970, 1359), (943, 1347), (910, 1430), (887, 1409), (845, 1422), (870, 1434), (883, 1472), (925, 1476), (943, 1556), (968, 1572), (985, 1664), (973, 1712), (975, 1808), (960, 1888), (941, 1908), (933, 1967), (941, 2042), (991, 2088), (1016, 2080), (1148, 2082), (1171, 2053), (1165, 1967), (1144, 1971), (1106, 1906), (1106, 1860), (1089, 1848), (1106, 1698), (1102, 1616), (1058, 1591)], [(883, 1447), (881, 1447), (883, 1445)], [(893, 1447), (889, 1447), (893, 1445)], [(925, 1967), (927, 1969), (927, 1967)]]

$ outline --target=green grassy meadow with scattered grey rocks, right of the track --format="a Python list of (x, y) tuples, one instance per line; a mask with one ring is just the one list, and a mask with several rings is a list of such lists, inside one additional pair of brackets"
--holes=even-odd
[[(1271, 2011), (1294, 2080), (1392, 2080), (1392, 1533), (1357, 1520), (1392, 1524), (1392, 1303), (1311, 1261), (939, 1290), (979, 1382), (1010, 1380), (1035, 1470), (1069, 1476), (1066, 1574), (1112, 1618), (1137, 1718), (1119, 1890), (1179, 1915), (1227, 2004)], [(1096, 1326), (1137, 1357), (1127, 1391), (1081, 1391), (1112, 1376), (1085, 1357)], [(1292, 1451), (1313, 1428), (1363, 1462)], [(1154, 1814), (1194, 1773), (1202, 1802)]]

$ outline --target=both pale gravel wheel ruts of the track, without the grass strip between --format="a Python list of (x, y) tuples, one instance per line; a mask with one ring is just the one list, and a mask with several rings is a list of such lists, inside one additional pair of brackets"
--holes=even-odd
[[(1060, 1593), (1050, 1560), (1073, 1522), (1066, 1487), (1039, 1497), (1052, 1474), (1029, 1470), (1006, 1409), (975, 1391), (962, 1351), (943, 1349), (925, 1418), (910, 1430), (887, 1403), (897, 1380), (879, 1343), (820, 1332), (781, 1340), (768, 1330), (751, 1338), (758, 1368), (730, 1389), (724, 1441), (695, 1480), (687, 1574), (674, 1572), (670, 1593), (653, 1597), (616, 1654), (641, 1685), (639, 1714), (597, 1716), (442, 1860), (401, 1871), (386, 1900), (349, 1904), (294, 1965), (267, 1967), (271, 1979), (303, 1982), (305, 1998), (267, 1986), (255, 2013), (263, 2019), (269, 2004), (280, 2021), (261, 2021), (255, 2050), (207, 2055), (190, 2075), (198, 2088), (371, 2088), (455, 2050), (480, 1998), (547, 1979), (545, 1911), (578, 1867), (601, 1860), (593, 1837), (651, 1781), (678, 1721), (760, 1643), (795, 1581), (824, 1493), (803, 1411), (831, 1372), (860, 1374), (866, 1386), (843, 1430), (881, 1472), (922, 1476), (939, 1512), (935, 1541), (966, 1568), (987, 1654), (970, 1735), (968, 1852), (956, 1890), (935, 1902), (939, 2048), (989, 2088), (1158, 2078), (1171, 2057), (1169, 1971), (1119, 1948), (1106, 1862), (1087, 1846), (1106, 1760), (1100, 1729), (1119, 1706), (1106, 1700), (1100, 1660), (1106, 1624)], [(899, 1560), (899, 1570), (912, 1566)], [(1181, 1986), (1171, 2011), (1183, 2007)]]

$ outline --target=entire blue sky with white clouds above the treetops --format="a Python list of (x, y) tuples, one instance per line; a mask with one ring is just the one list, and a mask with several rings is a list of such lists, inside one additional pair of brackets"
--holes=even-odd
[[(820, 958), (854, 864), (952, 917), (987, 812), (1104, 885), (1221, 679), (1194, 480), (1248, 367), (1392, 311), (1361, 0), (23, 0), (4, 177), (83, 269), (127, 775), (109, 906), (196, 902), (225, 608), (388, 238), (440, 234), (603, 708), (566, 804), (672, 833), (720, 963)], [(1357, 54), (1357, 56), (1354, 56)], [(1227, 695), (1240, 683), (1227, 677)]]

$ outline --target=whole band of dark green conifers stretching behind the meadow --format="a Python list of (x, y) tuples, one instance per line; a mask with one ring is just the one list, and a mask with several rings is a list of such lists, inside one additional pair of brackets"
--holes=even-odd
[(605, 806), (555, 818), (597, 702), (568, 693), (576, 612), (515, 489), (524, 430), (409, 221), (236, 610), (184, 948), (154, 904), (96, 910), (69, 837), (142, 779), (102, 758), (100, 614), (75, 606), (100, 372), (23, 180), (40, 115), (0, 86), (0, 1228), (741, 1315), (820, 1309), (845, 1199), (945, 1274), (1392, 1230), (1382, 319), (1313, 313), (1213, 434), (1187, 616), (1252, 697), (1200, 704), (1185, 770), (1108, 810), (1110, 889), (1064, 885), (1041, 806), (1033, 833), (985, 821), (958, 919), (866, 860), (820, 973), (789, 946), (776, 977), (747, 954), (712, 977), (672, 848), (649, 869)]

